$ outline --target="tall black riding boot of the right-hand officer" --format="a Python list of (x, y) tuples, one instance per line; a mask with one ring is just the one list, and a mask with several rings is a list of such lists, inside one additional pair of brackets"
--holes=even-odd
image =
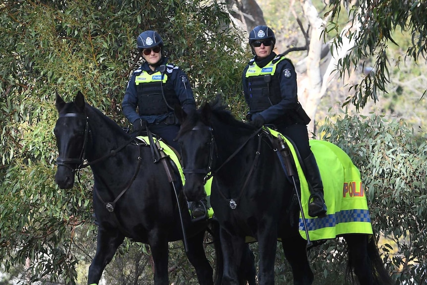
[(310, 184), (310, 198), (309, 198), (309, 216), (310, 217), (324, 217), (326, 214), (326, 204), (323, 198), (323, 183), (320, 177), (319, 167), (316, 163), (316, 158), (311, 153), (304, 159), (306, 167), (306, 178)]

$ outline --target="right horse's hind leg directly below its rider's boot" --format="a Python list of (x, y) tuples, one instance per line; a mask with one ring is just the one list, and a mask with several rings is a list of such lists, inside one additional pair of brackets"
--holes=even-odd
[(292, 268), (294, 285), (313, 284), (314, 275), (307, 259), (307, 241), (299, 233), (282, 236), (283, 252)]

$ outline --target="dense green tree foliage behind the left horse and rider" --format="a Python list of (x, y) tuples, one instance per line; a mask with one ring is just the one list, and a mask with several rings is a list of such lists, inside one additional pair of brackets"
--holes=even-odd
[(1, 264), (8, 272), (25, 265), (28, 284), (76, 284), (75, 266), (86, 253), (75, 231), (93, 230), (92, 173), (80, 171), (81, 183), (70, 190), (54, 183), (55, 92), (70, 101), (81, 90), (126, 126), (120, 103), (139, 64), (136, 37), (154, 29), (188, 73), (199, 104), (222, 93), (243, 106), (234, 96), (247, 56), (242, 35), (221, 4), (199, 0), (5, 0), (0, 23)]

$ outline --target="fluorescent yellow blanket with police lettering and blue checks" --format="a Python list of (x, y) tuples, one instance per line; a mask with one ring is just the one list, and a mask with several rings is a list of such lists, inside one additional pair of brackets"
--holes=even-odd
[[(279, 133), (271, 130), (272, 135)], [(360, 171), (350, 157), (338, 146), (322, 140), (310, 140), (311, 150), (316, 158), (323, 182), (324, 199), (327, 207), (326, 216), (312, 218), (308, 214), (310, 191), (298, 161), (292, 143), (282, 135), (288, 144), (297, 168), (301, 204), (305, 224), (310, 240), (335, 238), (345, 233), (373, 234), (371, 216), (368, 210), (365, 189)], [(302, 215), (299, 217), (299, 232), (307, 239)]]

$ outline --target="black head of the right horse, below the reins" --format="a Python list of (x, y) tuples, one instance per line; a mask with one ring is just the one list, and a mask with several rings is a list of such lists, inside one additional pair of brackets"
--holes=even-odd
[(181, 108), (175, 109), (181, 122), (177, 135), (181, 147), (183, 172), (185, 175), (184, 195), (187, 201), (199, 201), (206, 196), (205, 183), (212, 170), (214, 137), (209, 125), (210, 105), (192, 114)]

